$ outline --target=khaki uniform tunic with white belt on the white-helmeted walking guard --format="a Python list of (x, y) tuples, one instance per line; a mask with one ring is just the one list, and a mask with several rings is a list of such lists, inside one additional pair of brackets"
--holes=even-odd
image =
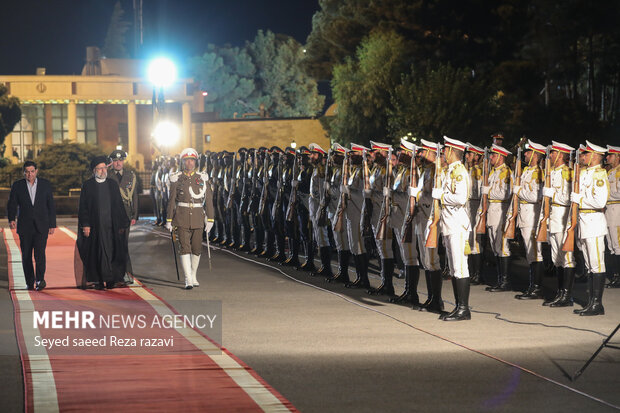
[(207, 220), (212, 221), (213, 194), (209, 176), (200, 172), (176, 172), (170, 175), (168, 221), (177, 227), (179, 255), (200, 255), (202, 232)]

